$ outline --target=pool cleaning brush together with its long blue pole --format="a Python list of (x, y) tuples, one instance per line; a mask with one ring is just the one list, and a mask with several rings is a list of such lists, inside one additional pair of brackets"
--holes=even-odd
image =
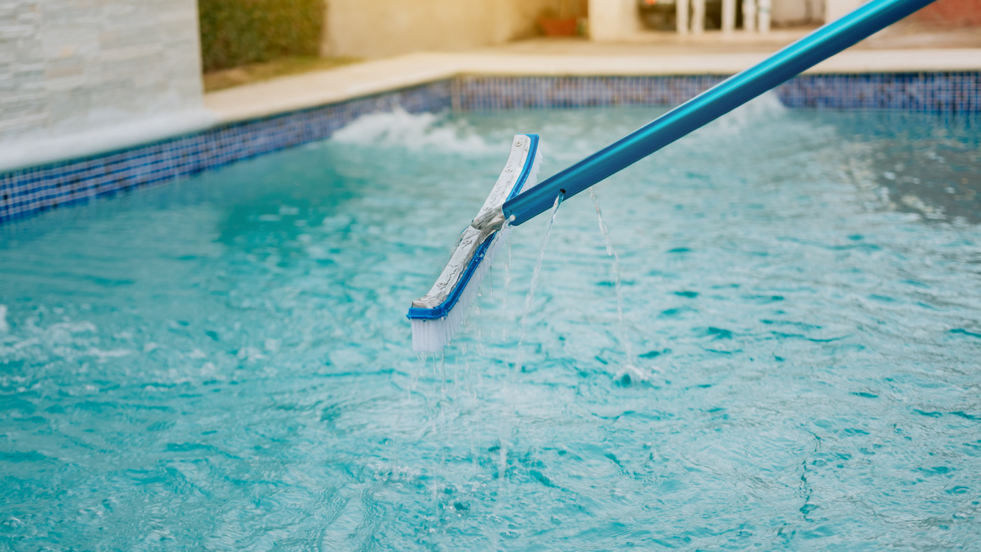
[[(414, 301), (409, 309), (412, 348), (439, 351), (449, 343), (510, 227), (522, 225), (551, 209), (559, 194), (565, 200), (588, 189), (933, 1), (871, 0), (851, 14), (814, 30), (759, 64), (723, 80), (568, 169), (548, 177), (535, 189), (530, 188), (538, 176), (539, 137), (535, 134), (515, 136), (508, 165), (481, 213), (460, 235), (453, 256), (436, 285), (425, 297)], [(521, 172), (516, 178), (519, 166)], [(507, 228), (503, 227), (505, 220)]]

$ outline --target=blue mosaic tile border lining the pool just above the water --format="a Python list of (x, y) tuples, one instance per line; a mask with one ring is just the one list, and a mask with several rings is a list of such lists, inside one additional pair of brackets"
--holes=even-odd
[[(330, 137), (362, 115), (677, 105), (721, 82), (717, 75), (464, 76), (157, 143), (0, 175), (0, 224), (133, 187), (192, 176)], [(776, 88), (791, 108), (981, 112), (981, 73), (801, 75)]]

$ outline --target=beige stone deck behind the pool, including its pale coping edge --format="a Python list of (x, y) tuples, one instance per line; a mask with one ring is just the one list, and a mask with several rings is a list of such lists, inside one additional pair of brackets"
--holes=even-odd
[[(533, 39), (458, 53), (417, 53), (330, 71), (290, 75), (211, 92), (205, 107), (233, 122), (315, 107), (454, 75), (733, 75), (810, 29), (766, 37), (643, 33), (630, 42)], [(855, 74), (981, 70), (977, 29), (930, 33), (886, 31), (807, 73)]]

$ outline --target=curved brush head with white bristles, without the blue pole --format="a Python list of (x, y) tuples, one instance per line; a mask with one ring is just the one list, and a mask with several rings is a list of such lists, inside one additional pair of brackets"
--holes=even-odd
[(412, 322), (412, 350), (439, 351), (453, 339), (467, 307), (490, 271), (497, 250), (511, 231), (504, 227), (501, 206), (533, 187), (541, 168), (538, 134), (516, 134), (507, 165), (477, 217), (457, 238), (446, 268), (429, 293), (412, 302), (406, 315)]

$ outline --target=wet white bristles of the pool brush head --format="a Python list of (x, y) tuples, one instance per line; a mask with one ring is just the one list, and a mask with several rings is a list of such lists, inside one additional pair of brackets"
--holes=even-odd
[[(525, 180), (525, 185), (521, 190), (522, 192), (539, 183), (539, 171), (541, 169), (542, 147), (540, 145), (535, 153), (535, 163), (532, 164), (532, 171), (529, 173), (528, 179)], [(471, 301), (474, 300), (474, 297), (477, 296), (477, 292), (480, 291), (481, 283), (484, 282), (484, 276), (487, 276), (488, 272), (490, 272), (490, 266), (493, 264), (497, 251), (500, 249), (501, 244), (507, 240), (509, 233), (511, 233), (511, 228), (508, 227), (494, 232), (493, 237), (490, 238), (492, 240), (490, 247), (488, 247), (488, 251), (484, 255), (480, 266), (477, 267), (474, 276), (471, 276), (470, 281), (467, 282), (467, 286), (463, 288), (459, 300), (457, 300), (456, 304), (453, 305), (453, 308), (449, 310), (449, 313), (444, 318), (439, 320), (411, 320), (413, 351), (419, 353), (437, 352), (453, 339), (457, 328), (463, 324), (463, 317), (467, 313), (467, 308), (470, 306)]]

